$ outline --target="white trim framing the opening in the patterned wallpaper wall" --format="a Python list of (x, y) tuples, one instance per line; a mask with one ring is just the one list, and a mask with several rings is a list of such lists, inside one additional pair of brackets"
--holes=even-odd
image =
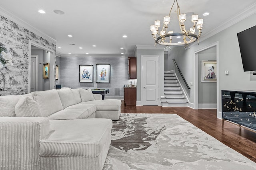
[[(51, 54), (53, 54), (53, 56), (55, 55), (55, 51), (53, 51), (52, 49), (48, 49), (46, 47), (44, 47), (43, 45), (41, 44), (38, 44), (34, 41), (31, 41), (31, 40), (28, 40), (28, 93), (30, 93), (30, 83), (31, 83), (31, 80), (30, 80), (30, 64), (31, 64), (31, 45), (34, 45), (40, 49), (43, 49), (43, 50), (46, 50), (46, 51), (49, 51)], [(52, 66), (53, 64), (53, 66)], [(55, 63), (50, 63), (50, 67), (51, 67), (51, 70), (55, 70)], [(38, 64), (39, 66), (39, 64)], [(54, 69), (53, 69), (54, 68)], [(54, 73), (53, 73), (54, 72)], [(55, 74), (55, 71), (51, 71), (50, 74), (53, 73), (53, 75)], [(53, 82), (52, 82), (53, 81)], [(55, 84), (55, 76), (51, 76), (50, 75), (50, 89), (52, 89), (51, 87), (51, 84)], [(53, 87), (54, 88), (54, 87)]]

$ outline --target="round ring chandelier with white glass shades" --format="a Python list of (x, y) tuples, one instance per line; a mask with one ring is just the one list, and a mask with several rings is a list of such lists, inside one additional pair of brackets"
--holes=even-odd
[[(177, 4), (175, 12), (177, 14), (178, 22), (180, 25), (180, 32), (178, 33), (174, 33), (173, 31), (167, 31), (168, 24), (170, 23), (171, 11), (175, 2)], [(172, 4), (172, 8), (170, 10), (169, 16), (164, 17), (164, 25), (162, 29), (159, 30), (160, 20), (156, 20), (155, 25), (150, 26), (150, 30), (152, 31), (152, 37), (155, 40), (155, 45), (156, 44), (165, 45), (166, 48), (169, 46), (185, 45), (184, 48), (186, 48), (188, 47), (188, 44), (194, 43), (196, 40), (198, 40), (198, 44), (199, 44), (199, 37), (201, 35), (201, 30), (203, 28), (203, 19), (198, 19), (198, 15), (196, 14), (192, 15), (191, 21), (193, 23), (193, 26), (189, 30), (186, 30), (184, 25), (184, 22), (186, 21), (186, 14), (180, 14), (180, 6), (178, 4), (178, 0), (174, 0)], [(195, 34), (196, 29), (199, 31), (198, 35)], [(178, 36), (183, 37), (183, 42), (172, 43), (172, 37), (178, 37)], [(168, 39), (170, 39), (170, 41), (167, 40), (167, 37), (169, 37)]]

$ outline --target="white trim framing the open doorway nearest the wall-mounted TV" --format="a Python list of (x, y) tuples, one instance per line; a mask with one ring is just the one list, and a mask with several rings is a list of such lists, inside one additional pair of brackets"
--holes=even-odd
[[(215, 42), (215, 43), (212, 43), (202, 49), (199, 49), (197, 51), (194, 52), (194, 109), (198, 109), (198, 53), (200, 53), (201, 51), (204, 51), (206, 49), (210, 49), (212, 47), (215, 47), (216, 46), (216, 61), (217, 61), (217, 80), (216, 80), (216, 83), (217, 83), (217, 117), (218, 117), (218, 112), (219, 112), (219, 75), (220, 75), (220, 72), (219, 72), (219, 42)], [(201, 77), (200, 77), (201, 78)]]

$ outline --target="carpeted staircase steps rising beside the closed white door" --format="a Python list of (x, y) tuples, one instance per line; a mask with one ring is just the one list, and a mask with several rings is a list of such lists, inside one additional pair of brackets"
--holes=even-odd
[(186, 107), (188, 100), (174, 71), (164, 72), (164, 96), (161, 97), (163, 107)]

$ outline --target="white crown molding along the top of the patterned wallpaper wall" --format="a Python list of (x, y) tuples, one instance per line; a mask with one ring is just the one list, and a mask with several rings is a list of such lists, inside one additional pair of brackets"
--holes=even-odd
[(2, 8), (1, 6), (0, 6), (0, 15), (6, 17), (6, 18), (8, 18), (8, 20), (11, 20), (11, 21), (17, 23), (18, 25), (20, 25), (20, 26), (22, 26), (22, 27), (32, 31), (36, 35), (39, 35), (40, 37), (50, 41), (51, 43), (56, 44), (56, 42), (57, 42), (56, 39), (53, 39), (52, 37), (46, 35), (42, 31), (39, 31), (36, 27), (30, 25), (29, 23), (27, 23), (26, 21), (22, 20), (21, 18), (18, 18), (17, 16), (14, 16), (13, 14), (8, 12), (4, 8)]

